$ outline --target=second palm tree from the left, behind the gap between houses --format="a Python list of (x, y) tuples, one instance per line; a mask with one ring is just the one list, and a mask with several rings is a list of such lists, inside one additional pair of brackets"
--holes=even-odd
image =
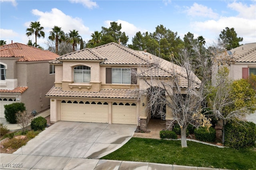
[(52, 28), (52, 31), (50, 32), (50, 36), (48, 38), (52, 41), (56, 40), (56, 42), (55, 42), (55, 52), (56, 52), (56, 54), (58, 54), (58, 43), (61, 43), (62, 41), (66, 40), (65, 34), (61, 30), (61, 27), (54, 26), (54, 28)]

